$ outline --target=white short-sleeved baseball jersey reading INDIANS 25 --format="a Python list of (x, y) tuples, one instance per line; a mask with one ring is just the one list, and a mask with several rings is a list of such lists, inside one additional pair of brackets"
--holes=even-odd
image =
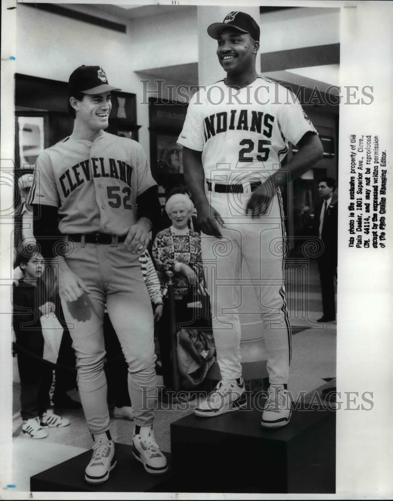
[(288, 141), (308, 131), (316, 133), (295, 96), (258, 77), (240, 90), (220, 81), (195, 93), (177, 142), (202, 151), (208, 181), (241, 183), (280, 168)]

